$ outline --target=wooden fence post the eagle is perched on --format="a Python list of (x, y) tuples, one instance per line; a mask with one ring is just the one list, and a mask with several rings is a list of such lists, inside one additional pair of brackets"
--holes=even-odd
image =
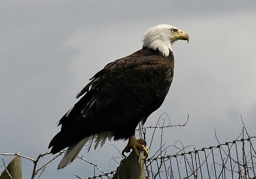
[(126, 159), (122, 160), (113, 179), (145, 179), (144, 156), (141, 151), (139, 153), (139, 159), (132, 151)]

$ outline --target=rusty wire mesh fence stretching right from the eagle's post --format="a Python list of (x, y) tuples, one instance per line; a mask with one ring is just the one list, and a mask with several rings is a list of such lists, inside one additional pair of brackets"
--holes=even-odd
[[(256, 178), (256, 137), (145, 160), (146, 178)], [(89, 178), (112, 178), (114, 172)], [(89, 179), (88, 178), (88, 179)]]

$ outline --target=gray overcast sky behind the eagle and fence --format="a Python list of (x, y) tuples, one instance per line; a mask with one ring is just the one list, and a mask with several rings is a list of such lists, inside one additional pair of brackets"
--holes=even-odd
[[(140, 49), (146, 29), (161, 23), (184, 30), (190, 42), (174, 44), (174, 82), (145, 125), (163, 112), (180, 124), (189, 113), (185, 127), (164, 131), (165, 142), (201, 148), (217, 144), (215, 129), (223, 142), (236, 138), (242, 115), (255, 136), (255, 19), (256, 1), (1, 1), (0, 152), (36, 158), (49, 151), (56, 122), (88, 79)], [(105, 171), (115, 170), (110, 156), (119, 156), (110, 143), (81, 154)], [(79, 161), (57, 171), (58, 161), (41, 178), (93, 175)], [(24, 178), (31, 170), (24, 161)]]

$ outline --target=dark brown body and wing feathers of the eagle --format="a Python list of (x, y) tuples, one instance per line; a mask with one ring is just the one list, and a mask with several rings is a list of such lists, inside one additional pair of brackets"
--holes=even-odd
[(49, 144), (51, 152), (105, 131), (114, 140), (128, 139), (141, 121), (163, 103), (173, 81), (174, 56), (142, 48), (107, 64), (97, 72), (77, 98), (74, 108), (59, 121), (61, 131)]

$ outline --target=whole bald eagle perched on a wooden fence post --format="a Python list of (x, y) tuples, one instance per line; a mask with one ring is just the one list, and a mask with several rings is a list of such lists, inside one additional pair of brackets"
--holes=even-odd
[(123, 152), (137, 148), (148, 155), (143, 140), (134, 134), (139, 122), (163, 103), (174, 77), (173, 43), (189, 41), (178, 28), (160, 24), (149, 28), (143, 47), (137, 52), (115, 60), (98, 71), (77, 95), (78, 102), (59, 120), (61, 130), (49, 144), (56, 154), (68, 147), (58, 169), (66, 167), (87, 144), (89, 149), (102, 146), (106, 139), (129, 139)]

